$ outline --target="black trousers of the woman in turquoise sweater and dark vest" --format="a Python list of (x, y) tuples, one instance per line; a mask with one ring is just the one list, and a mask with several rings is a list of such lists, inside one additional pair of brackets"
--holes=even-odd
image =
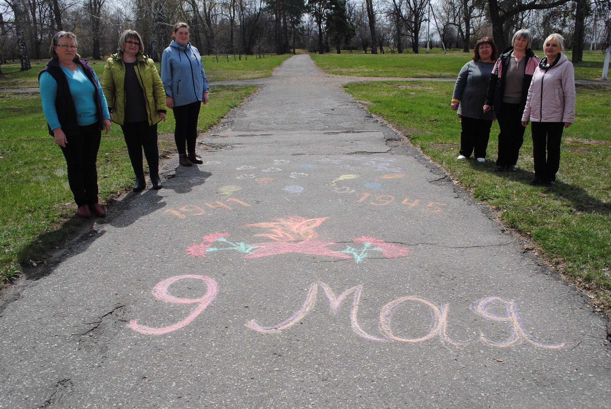
[(100, 125), (79, 127), (78, 135), (66, 136), (68, 143), (60, 147), (68, 166), (68, 184), (78, 207), (98, 202), (98, 149), (102, 134)]

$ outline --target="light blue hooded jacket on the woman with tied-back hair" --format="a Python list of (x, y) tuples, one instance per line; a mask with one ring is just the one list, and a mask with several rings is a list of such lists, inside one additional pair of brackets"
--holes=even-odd
[(172, 41), (161, 56), (161, 81), (174, 106), (203, 101), (208, 80), (197, 48), (189, 42), (183, 47)]

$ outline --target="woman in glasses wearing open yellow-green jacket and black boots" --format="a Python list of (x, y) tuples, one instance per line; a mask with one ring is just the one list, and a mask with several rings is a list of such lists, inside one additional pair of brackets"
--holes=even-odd
[(153, 189), (161, 189), (157, 123), (166, 120), (166, 91), (155, 63), (144, 54), (140, 34), (134, 30), (123, 31), (119, 37), (119, 50), (104, 65), (102, 89), (108, 100), (111, 119), (123, 130), (136, 174), (134, 192), (146, 187), (142, 149)]

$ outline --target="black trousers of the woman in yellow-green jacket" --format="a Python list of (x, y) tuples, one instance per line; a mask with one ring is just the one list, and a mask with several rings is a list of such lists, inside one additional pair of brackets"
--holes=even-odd
[(157, 124), (148, 125), (148, 120), (142, 122), (125, 122), (121, 125), (123, 137), (130, 155), (131, 167), (139, 179), (144, 179), (142, 168), (142, 149), (147, 158), (148, 174), (159, 177), (159, 148), (157, 147)]

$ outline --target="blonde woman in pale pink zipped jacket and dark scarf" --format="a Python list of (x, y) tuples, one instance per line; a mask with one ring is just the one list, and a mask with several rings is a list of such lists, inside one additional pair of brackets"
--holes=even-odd
[(564, 48), (562, 35), (549, 35), (543, 48), (545, 57), (533, 74), (522, 115), (524, 127), (532, 121), (535, 179), (530, 185), (533, 186), (554, 185), (560, 167), (562, 131), (575, 120), (575, 71), (560, 52)]

